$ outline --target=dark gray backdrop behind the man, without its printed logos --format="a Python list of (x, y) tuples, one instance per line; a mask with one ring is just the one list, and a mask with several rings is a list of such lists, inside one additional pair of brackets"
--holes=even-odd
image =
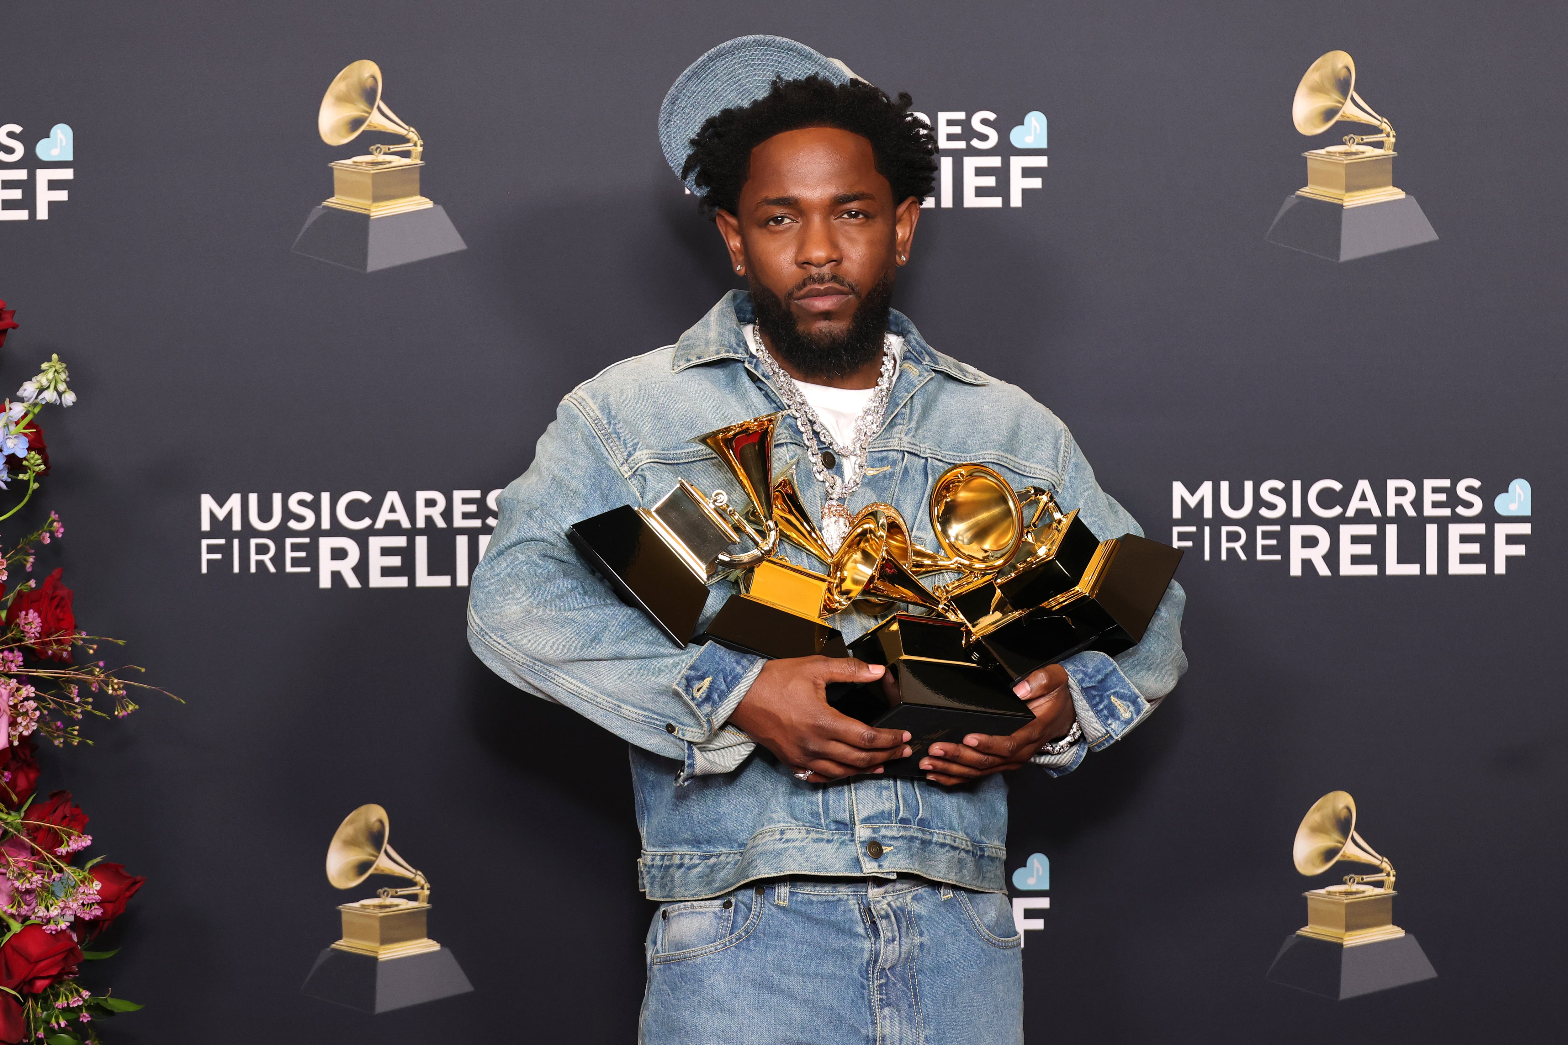
[[(82, 392), (45, 415), (41, 508), (69, 528), (47, 564), (85, 627), (187, 699), (44, 752), (94, 851), (149, 876), (124, 954), (93, 968), (147, 1003), (114, 1040), (632, 1037), (649, 907), (621, 743), (491, 678), (461, 589), (202, 577), (198, 539), (230, 534), (199, 533), (198, 497), (411, 500), (522, 472), (572, 384), (731, 285), (654, 121), (696, 55), (757, 31), (922, 111), (994, 110), (994, 154), (1047, 114), (1044, 188), (925, 212), (900, 307), (1054, 407), (1151, 536), (1173, 479), (1479, 476), (1480, 522), (1512, 478), (1541, 495), (1507, 577), (1189, 555), (1178, 691), (1077, 774), (1014, 782), (1011, 865), (1052, 860), (1032, 1039), (1524, 1040), (1562, 1015), (1560, 5), (17, 3), (3, 22), (0, 122), (28, 146), (9, 166), (75, 130), (69, 202), (0, 224), (24, 324), (5, 381), (60, 351)], [(1264, 243), (1323, 144), (1292, 130), (1290, 94), (1336, 47), (1439, 243), (1342, 266)], [(425, 135), (425, 191), (466, 252), (372, 276), (290, 254), (351, 152), (314, 119), (356, 58)], [(1438, 981), (1342, 1004), (1264, 982), (1309, 885), (1290, 835), (1333, 788), (1400, 870), (1397, 921)], [(328, 837), (367, 801), (431, 876), (433, 935), (477, 993), (379, 1018), (298, 995), (345, 898)]]

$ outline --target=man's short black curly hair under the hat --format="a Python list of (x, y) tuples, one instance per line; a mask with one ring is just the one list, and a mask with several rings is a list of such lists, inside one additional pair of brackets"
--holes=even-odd
[[(681, 177), (691, 177), (702, 196), (698, 205), (735, 213), (740, 188), (751, 169), (751, 150), (773, 135), (804, 127), (836, 127), (872, 143), (877, 172), (892, 185), (895, 204), (925, 199), (936, 182), (936, 141), (931, 128), (909, 111), (914, 99), (889, 99), (864, 80), (833, 83), (818, 75), (778, 77), (756, 102), (710, 116), (691, 139)], [(695, 174), (695, 177), (693, 177)]]

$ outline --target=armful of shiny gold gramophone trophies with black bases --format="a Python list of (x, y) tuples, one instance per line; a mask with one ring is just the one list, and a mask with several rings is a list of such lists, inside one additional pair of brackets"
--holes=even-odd
[[(837, 550), (800, 500), (790, 473), (773, 478), (773, 429), (782, 414), (729, 425), (709, 447), (745, 490), (746, 514), (724, 490), (685, 479), (652, 508), (622, 504), (568, 530), (577, 551), (619, 598), (676, 644), (720, 642), (768, 658), (856, 656), (881, 678), (828, 689), (837, 711), (877, 729), (908, 730), (913, 754), (889, 776), (924, 779), (931, 743), (1011, 733), (1033, 713), (1013, 685), (1083, 650), (1135, 645), (1176, 573), (1181, 551), (1137, 534), (1099, 541), (1063, 514), (1051, 490), (1013, 487), (993, 468), (960, 464), (931, 490), (941, 551), (916, 544), (898, 509), (867, 504)], [(795, 566), (779, 541), (826, 564)], [(750, 544), (750, 551), (729, 548)], [(928, 586), (922, 577), (956, 573)], [(699, 635), (707, 586), (731, 595)], [(883, 620), (851, 644), (828, 617), (855, 606)]]

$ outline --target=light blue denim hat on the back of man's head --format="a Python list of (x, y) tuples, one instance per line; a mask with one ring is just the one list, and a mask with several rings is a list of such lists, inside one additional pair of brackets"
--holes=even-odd
[[(782, 36), (737, 36), (693, 61), (659, 107), (659, 144), (670, 169), (681, 177), (691, 139), (710, 116), (756, 102), (768, 92), (775, 77), (804, 80), (812, 74), (833, 83), (859, 80), (837, 58)], [(701, 196), (691, 179), (685, 179), (685, 186)]]

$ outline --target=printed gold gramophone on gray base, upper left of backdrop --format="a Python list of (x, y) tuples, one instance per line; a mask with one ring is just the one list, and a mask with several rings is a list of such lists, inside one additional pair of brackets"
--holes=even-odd
[(375, 143), (365, 155), (328, 165), (332, 196), (310, 213), (295, 241), (296, 254), (375, 271), (466, 249), (447, 212), (420, 194), (425, 139), (387, 108), (381, 83), (373, 61), (354, 61), (339, 72), (317, 113), (321, 141), (347, 146), (367, 130), (408, 141)]

